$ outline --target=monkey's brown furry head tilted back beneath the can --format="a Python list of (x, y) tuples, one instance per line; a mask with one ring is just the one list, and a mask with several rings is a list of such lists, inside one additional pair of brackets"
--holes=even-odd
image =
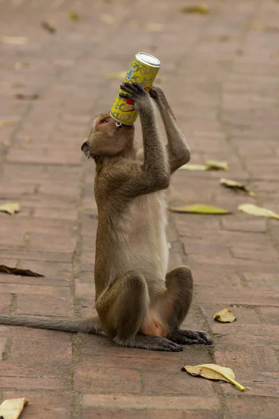
[(82, 152), (87, 159), (98, 156), (118, 156), (133, 147), (135, 127), (116, 126), (110, 113), (96, 117), (87, 140), (82, 144)]

